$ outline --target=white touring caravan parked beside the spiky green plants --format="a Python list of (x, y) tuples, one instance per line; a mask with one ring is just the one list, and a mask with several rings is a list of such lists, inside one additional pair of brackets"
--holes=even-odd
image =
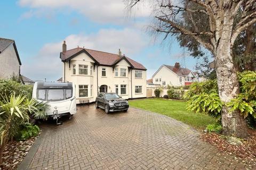
[(68, 115), (70, 118), (76, 114), (75, 84), (69, 82), (37, 81), (33, 88), (33, 98), (46, 101), (50, 108), (46, 114), (53, 119)]

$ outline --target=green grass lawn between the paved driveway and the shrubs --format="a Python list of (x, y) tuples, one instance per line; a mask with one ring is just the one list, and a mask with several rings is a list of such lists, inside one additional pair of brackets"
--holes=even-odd
[(141, 99), (130, 100), (131, 107), (159, 113), (184, 122), (196, 129), (205, 129), (207, 124), (215, 123), (214, 118), (205, 114), (195, 114), (186, 110), (185, 101), (165, 100), (165, 99)]

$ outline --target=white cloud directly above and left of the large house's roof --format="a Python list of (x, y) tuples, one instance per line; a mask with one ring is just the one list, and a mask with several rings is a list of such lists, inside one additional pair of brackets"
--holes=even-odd
[[(116, 53), (121, 48), (123, 54), (132, 57), (148, 44), (146, 36), (134, 29), (101, 29), (89, 35), (69, 35), (66, 40), (67, 49), (80, 47)], [(45, 44), (30, 61), (22, 62), (21, 73), (35, 80), (47, 78), (55, 81), (62, 76), (62, 63), (59, 58), (62, 40)]]

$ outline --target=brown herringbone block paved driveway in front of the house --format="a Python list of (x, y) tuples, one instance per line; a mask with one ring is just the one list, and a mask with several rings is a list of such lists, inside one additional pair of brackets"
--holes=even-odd
[[(28, 169), (245, 169), (199, 133), (172, 118), (140, 109), (105, 114), (79, 106), (72, 120), (44, 123)], [(28, 156), (29, 157), (29, 156)], [(26, 166), (24, 166), (26, 165)]]

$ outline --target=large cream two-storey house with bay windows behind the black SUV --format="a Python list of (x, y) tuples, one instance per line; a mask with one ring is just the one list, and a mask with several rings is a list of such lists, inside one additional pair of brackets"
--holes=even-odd
[(99, 92), (116, 92), (125, 99), (146, 97), (147, 69), (122, 55), (86, 48), (67, 50), (63, 41), (60, 53), (63, 62), (62, 82), (76, 85), (77, 103), (95, 101)]

